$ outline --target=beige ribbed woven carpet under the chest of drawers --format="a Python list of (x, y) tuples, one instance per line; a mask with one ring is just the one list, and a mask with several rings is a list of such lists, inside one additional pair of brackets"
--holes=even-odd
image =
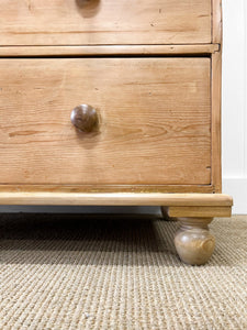
[(247, 329), (247, 217), (183, 265), (154, 216), (1, 215), (0, 329)]

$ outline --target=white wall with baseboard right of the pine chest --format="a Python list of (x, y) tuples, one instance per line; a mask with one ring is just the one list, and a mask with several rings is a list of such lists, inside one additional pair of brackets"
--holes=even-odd
[(247, 213), (247, 1), (223, 0), (223, 193)]

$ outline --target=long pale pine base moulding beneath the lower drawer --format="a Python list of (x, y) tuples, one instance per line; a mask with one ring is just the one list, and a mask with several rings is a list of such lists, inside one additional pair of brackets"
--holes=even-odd
[(0, 191), (0, 205), (89, 205), (89, 206), (221, 206), (229, 207), (233, 199), (223, 194), (161, 194), (161, 193), (56, 193)]

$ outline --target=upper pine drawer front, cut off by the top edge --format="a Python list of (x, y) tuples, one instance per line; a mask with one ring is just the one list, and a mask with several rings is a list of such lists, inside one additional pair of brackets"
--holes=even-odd
[(1, 0), (1, 45), (211, 43), (211, 0)]

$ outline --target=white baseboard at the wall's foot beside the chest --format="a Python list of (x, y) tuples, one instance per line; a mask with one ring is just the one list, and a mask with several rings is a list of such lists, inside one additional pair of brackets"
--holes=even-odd
[(223, 178), (222, 191), (233, 197), (234, 215), (247, 215), (247, 178)]

